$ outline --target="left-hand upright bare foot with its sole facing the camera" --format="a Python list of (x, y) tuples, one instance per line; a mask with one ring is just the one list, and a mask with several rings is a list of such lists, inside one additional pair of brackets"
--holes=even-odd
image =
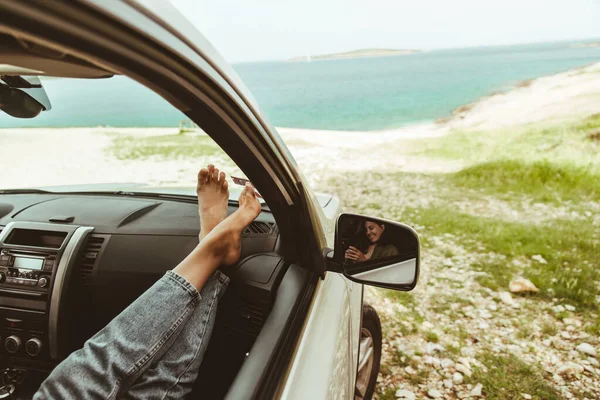
[(198, 172), (198, 214), (200, 215), (200, 235), (202, 240), (227, 217), (229, 200), (228, 183), (225, 173), (209, 164)]

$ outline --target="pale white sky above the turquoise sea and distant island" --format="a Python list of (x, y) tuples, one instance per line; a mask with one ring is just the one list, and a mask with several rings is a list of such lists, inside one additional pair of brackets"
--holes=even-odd
[(171, 0), (229, 62), (600, 39), (600, 0)]

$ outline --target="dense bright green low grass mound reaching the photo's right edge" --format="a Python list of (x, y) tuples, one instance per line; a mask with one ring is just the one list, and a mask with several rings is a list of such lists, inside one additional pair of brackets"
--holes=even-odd
[(461, 187), (539, 202), (592, 200), (600, 197), (600, 175), (583, 167), (548, 161), (525, 163), (501, 160), (478, 164), (452, 174), (449, 181)]

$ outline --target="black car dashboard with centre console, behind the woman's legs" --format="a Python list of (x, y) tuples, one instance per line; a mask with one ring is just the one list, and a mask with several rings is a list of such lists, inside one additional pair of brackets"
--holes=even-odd
[[(0, 195), (0, 367), (30, 376), (22, 398), (185, 258), (198, 234), (193, 199)], [(264, 210), (244, 231), (241, 261), (227, 272), (230, 289), (207, 354), (229, 360), (213, 368), (222, 383), (216, 397), (256, 340), (289, 267), (277, 254), (278, 240), (275, 219)]]

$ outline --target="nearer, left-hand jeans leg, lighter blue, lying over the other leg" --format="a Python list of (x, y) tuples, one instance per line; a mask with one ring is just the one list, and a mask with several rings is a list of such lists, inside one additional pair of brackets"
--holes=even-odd
[(201, 300), (187, 280), (168, 271), (83, 348), (60, 363), (34, 399), (114, 399), (161, 357)]

